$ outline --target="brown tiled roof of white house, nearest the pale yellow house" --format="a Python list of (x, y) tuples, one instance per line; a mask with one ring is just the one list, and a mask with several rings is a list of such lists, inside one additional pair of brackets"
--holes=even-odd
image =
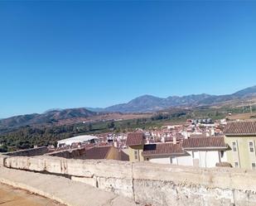
[(189, 138), (183, 141), (184, 149), (196, 148), (226, 148), (224, 137), (196, 137)]

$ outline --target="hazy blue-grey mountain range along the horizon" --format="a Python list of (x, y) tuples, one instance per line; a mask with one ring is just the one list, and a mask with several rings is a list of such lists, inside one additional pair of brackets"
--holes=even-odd
[(109, 108), (69, 108), (51, 109), (45, 113), (26, 114), (0, 120), (1, 127), (19, 127), (24, 125), (55, 123), (72, 118), (89, 118), (104, 113), (152, 113), (167, 108), (193, 108), (199, 106), (215, 106), (223, 103), (236, 103), (256, 98), (256, 86), (227, 95), (191, 94), (187, 96), (171, 96), (157, 98), (143, 95), (128, 103), (117, 104)]

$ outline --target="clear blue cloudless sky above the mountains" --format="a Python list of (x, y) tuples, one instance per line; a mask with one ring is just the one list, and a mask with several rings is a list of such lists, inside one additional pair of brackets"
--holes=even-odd
[(0, 2), (0, 117), (256, 84), (256, 2)]

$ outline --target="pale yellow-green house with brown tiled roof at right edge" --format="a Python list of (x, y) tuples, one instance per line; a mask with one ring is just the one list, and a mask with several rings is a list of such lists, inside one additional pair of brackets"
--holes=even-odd
[(230, 149), (227, 158), (233, 167), (256, 168), (256, 122), (228, 122), (225, 130), (225, 142)]

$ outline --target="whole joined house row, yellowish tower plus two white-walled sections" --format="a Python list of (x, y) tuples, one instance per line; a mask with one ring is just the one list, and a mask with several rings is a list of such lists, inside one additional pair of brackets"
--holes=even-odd
[[(194, 137), (167, 143), (144, 144), (143, 133), (129, 133), (127, 138), (130, 161), (147, 160), (159, 164), (215, 167), (225, 165), (229, 149), (224, 137)], [(220, 164), (222, 163), (222, 164)]]

